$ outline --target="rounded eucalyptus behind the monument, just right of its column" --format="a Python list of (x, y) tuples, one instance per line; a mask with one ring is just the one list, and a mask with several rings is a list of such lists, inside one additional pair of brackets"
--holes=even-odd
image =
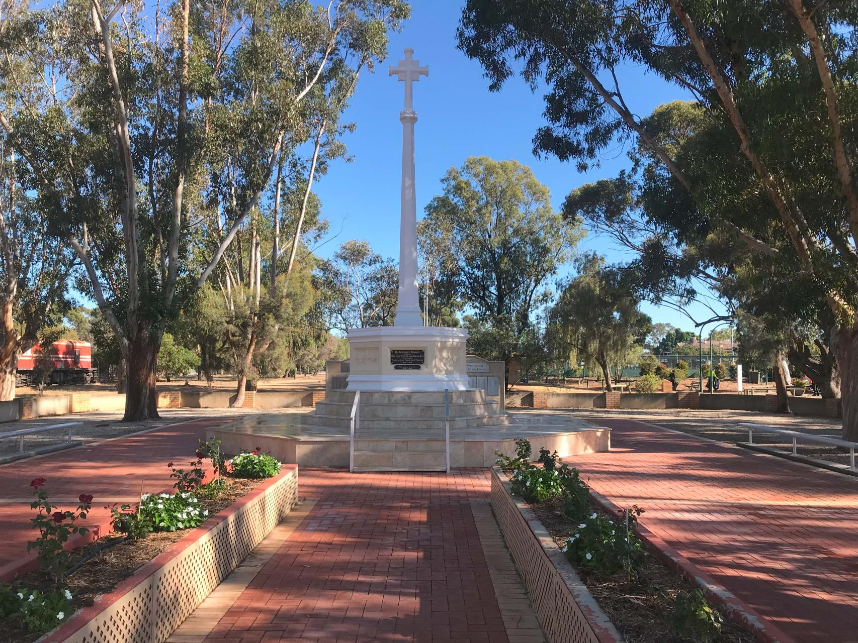
[(551, 296), (548, 280), (574, 255), (581, 226), (552, 207), (547, 187), (517, 161), (471, 157), (441, 183), (426, 206), (421, 243), (444, 249), (436, 255), (447, 279), (486, 322), (474, 330), (507, 335), (498, 358), (508, 362)]

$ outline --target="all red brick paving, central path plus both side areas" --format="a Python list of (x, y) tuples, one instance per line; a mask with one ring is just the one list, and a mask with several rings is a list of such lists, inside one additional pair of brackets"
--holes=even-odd
[[(584, 417), (546, 416), (547, 423)], [(794, 640), (858, 640), (858, 478), (598, 417), (613, 431), (611, 451), (571, 462), (594, 490), (646, 509), (641, 521), (650, 532)], [(141, 484), (168, 488), (166, 461), (190, 458), (205, 431), (229, 419), (185, 421), (0, 466), (0, 567), (20, 559), (31, 537), (30, 479), (47, 478), (57, 500), (94, 494), (91, 518), (103, 522), (104, 504), (134, 499)], [(511, 589), (516, 576), (487, 505), (486, 470), (302, 467), (299, 496), (310, 499), (305, 514), (257, 550), (253, 556), (267, 558), (216, 622), (206, 616), (210, 631), (175, 643), (541, 640), (523, 590)]]

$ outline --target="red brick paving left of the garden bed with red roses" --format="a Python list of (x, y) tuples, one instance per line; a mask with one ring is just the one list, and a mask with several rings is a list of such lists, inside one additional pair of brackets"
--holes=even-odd
[(218, 422), (191, 420), (0, 466), (0, 579), (28, 558), (33, 478), (45, 478), (51, 502), (63, 509), (75, 508), (80, 494), (92, 494), (94, 507), (86, 524), (106, 525), (110, 520), (106, 504), (136, 501), (141, 485), (149, 492), (172, 487), (166, 463), (187, 464), (197, 441), (205, 439), (206, 429)]

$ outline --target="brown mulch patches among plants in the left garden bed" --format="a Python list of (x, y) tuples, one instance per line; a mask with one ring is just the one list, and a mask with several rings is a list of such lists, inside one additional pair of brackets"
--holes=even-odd
[[(200, 501), (202, 506), (208, 509), (209, 514), (214, 515), (221, 512), (241, 496), (263, 483), (263, 480), (224, 479), (227, 481), (227, 488), (221, 494), (215, 498)], [(80, 569), (69, 576), (63, 587), (72, 593), (76, 608), (92, 605), (96, 598), (111, 592), (119, 583), (133, 576), (138, 569), (160, 556), (172, 544), (187, 536), (190, 531), (190, 529), (183, 529), (177, 532), (150, 533), (142, 540), (122, 540), (118, 544), (99, 551), (83, 563)], [(117, 536), (99, 538), (76, 550), (75, 560), (85, 558), (100, 547), (120, 539)], [(33, 589), (49, 584), (50, 579), (45, 574), (32, 572), (19, 580), (15, 580), (14, 586), (19, 589)], [(39, 636), (40, 634), (28, 633), (16, 621), (0, 619), (0, 641), (3, 643), (32, 643)]]

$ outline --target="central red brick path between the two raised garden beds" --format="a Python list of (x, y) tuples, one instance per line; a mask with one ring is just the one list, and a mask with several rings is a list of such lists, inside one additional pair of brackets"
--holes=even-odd
[(471, 498), (485, 470), (445, 474), (307, 469), (319, 498), (209, 643), (507, 643)]

